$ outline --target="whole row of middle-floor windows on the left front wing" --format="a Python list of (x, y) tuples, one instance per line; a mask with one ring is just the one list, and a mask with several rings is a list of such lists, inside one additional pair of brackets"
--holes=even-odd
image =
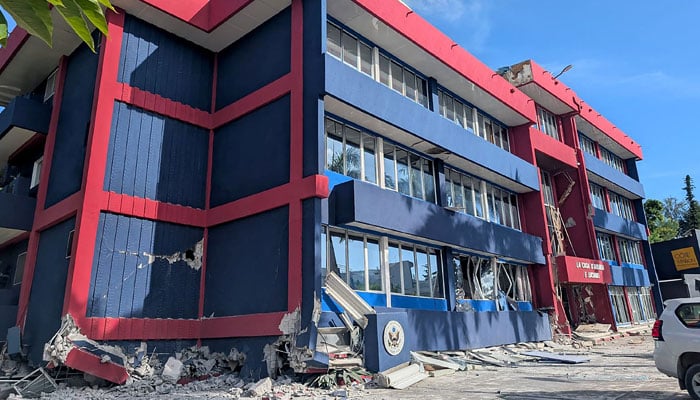
[[(437, 203), (433, 160), (360, 127), (325, 119), (325, 168), (384, 189)], [(517, 195), (445, 167), (447, 207), (521, 229)]]

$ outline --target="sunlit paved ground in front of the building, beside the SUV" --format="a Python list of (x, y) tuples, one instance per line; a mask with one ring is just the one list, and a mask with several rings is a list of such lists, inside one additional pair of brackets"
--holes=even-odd
[(654, 367), (654, 342), (632, 336), (587, 351), (584, 364), (528, 364), (428, 378), (404, 390), (371, 389), (362, 399), (690, 399)]

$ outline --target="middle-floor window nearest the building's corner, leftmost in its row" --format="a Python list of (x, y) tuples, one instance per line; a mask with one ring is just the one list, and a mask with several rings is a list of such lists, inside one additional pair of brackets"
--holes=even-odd
[(330, 118), (325, 126), (326, 169), (376, 184), (376, 138)]

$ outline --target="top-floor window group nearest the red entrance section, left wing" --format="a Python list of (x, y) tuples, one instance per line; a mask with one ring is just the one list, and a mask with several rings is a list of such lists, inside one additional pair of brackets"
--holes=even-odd
[(478, 112), (466, 102), (453, 97), (442, 89), (438, 89), (440, 115), (454, 121), (462, 128), (471, 130), (473, 134), (495, 144), (503, 150), (510, 151), (508, 128)]

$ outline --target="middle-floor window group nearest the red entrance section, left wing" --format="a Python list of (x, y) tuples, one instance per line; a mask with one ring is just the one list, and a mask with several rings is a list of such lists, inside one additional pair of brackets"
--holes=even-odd
[(445, 168), (445, 188), (448, 208), (520, 230), (516, 194), (449, 168)]

